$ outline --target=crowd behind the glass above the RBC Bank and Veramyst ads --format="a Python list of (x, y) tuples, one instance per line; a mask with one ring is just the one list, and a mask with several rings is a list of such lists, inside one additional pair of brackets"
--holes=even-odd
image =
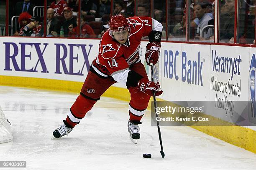
[[(171, 0), (172, 1), (172, 0)], [(186, 36), (186, 1), (169, 3), (168, 40), (184, 41)], [(215, 0), (191, 0), (189, 40), (214, 42)], [(235, 0), (219, 1), (219, 42), (233, 43)], [(237, 42), (253, 44), (255, 37), (255, 0), (238, 0)]]

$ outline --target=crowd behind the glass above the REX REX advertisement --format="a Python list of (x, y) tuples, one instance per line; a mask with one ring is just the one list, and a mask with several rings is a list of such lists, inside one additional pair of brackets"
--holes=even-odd
[(33, 16), (31, 0), (16, 2), (13, 16), (18, 17), (19, 28), (15, 36), (44, 36), (47, 37), (91, 37), (98, 38), (108, 29), (110, 16), (110, 0), (81, 0), (81, 28), (78, 29), (79, 0), (52, 0), (48, 4), (46, 28), (44, 17)]

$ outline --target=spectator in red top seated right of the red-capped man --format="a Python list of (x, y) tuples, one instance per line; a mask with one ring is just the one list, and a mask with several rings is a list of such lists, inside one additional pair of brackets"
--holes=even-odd
[[(95, 38), (96, 35), (90, 25), (86, 24), (85, 22), (85, 15), (81, 16), (81, 36), (79, 36), (78, 26), (73, 27), (73, 25), (69, 26), (69, 37), (83, 37), (83, 38)], [(78, 25), (78, 17), (77, 17), (77, 25)]]

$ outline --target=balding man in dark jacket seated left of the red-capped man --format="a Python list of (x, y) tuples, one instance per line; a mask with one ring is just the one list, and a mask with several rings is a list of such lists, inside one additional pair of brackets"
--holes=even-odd
[(60, 32), (60, 22), (54, 17), (54, 9), (49, 8), (47, 10), (47, 25), (46, 25), (46, 36), (47, 37), (58, 37)]

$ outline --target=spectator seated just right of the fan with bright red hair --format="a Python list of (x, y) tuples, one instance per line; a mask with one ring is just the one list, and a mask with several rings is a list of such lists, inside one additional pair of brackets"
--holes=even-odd
[(31, 20), (31, 22), (23, 29), (24, 35), (30, 37), (41, 37), (44, 32), (41, 30), (42, 25), (40, 24), (40, 17), (32, 17), (29, 20)]

